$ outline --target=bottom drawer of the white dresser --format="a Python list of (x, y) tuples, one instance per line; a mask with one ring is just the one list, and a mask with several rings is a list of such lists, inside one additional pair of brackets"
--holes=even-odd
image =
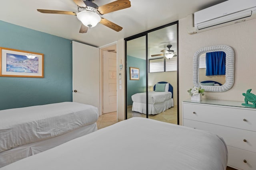
[[(242, 170), (256, 170), (256, 153), (228, 146), (228, 166)], [(246, 163), (245, 163), (245, 162)]]

